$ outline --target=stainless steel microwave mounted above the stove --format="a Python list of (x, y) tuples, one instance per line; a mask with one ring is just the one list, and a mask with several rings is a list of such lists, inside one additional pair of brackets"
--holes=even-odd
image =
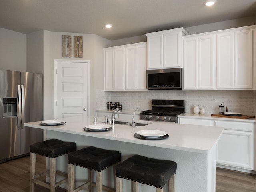
[(182, 89), (182, 68), (147, 70), (147, 89)]

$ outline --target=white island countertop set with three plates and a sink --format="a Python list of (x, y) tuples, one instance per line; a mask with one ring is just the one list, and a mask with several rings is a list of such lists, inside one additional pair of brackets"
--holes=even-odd
[[(24, 126), (202, 154), (211, 153), (224, 130), (224, 128), (212, 126), (151, 122), (146, 126), (136, 126), (135, 128), (116, 124), (112, 126), (112, 130), (106, 132), (84, 131), (85, 126), (93, 124), (93, 118), (87, 116), (68, 117), (63, 119), (66, 124), (59, 126), (41, 126), (39, 124), (41, 121), (24, 123)], [(104, 118), (97, 117), (97, 123), (104, 124), (100, 122), (104, 122)], [(150, 123), (149, 121), (139, 122)], [(163, 140), (143, 140), (134, 136), (138, 130), (161, 130), (169, 134), (170, 137)]]

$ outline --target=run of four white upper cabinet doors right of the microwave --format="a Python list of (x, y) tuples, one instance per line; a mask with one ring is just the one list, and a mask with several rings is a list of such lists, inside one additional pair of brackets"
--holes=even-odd
[(256, 26), (183, 38), (183, 90), (255, 90)]

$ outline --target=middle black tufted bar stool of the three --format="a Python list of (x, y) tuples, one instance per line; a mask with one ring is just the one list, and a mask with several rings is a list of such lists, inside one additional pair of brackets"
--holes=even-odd
[[(102, 171), (110, 166), (114, 170), (115, 184), (115, 164), (120, 162), (121, 153), (119, 151), (105, 150), (96, 147), (87, 147), (68, 154), (68, 192), (77, 192), (88, 186), (88, 191), (93, 191), (96, 186), (97, 192), (108, 190), (115, 192), (114, 188), (102, 185)], [(74, 188), (75, 166), (88, 169), (88, 179), (84, 184)], [(96, 171), (96, 183), (93, 182), (93, 170)]]

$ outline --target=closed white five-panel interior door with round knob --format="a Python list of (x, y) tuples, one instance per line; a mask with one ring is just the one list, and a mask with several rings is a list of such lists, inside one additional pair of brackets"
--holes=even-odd
[(90, 115), (90, 61), (54, 60), (54, 63), (54, 118)]

